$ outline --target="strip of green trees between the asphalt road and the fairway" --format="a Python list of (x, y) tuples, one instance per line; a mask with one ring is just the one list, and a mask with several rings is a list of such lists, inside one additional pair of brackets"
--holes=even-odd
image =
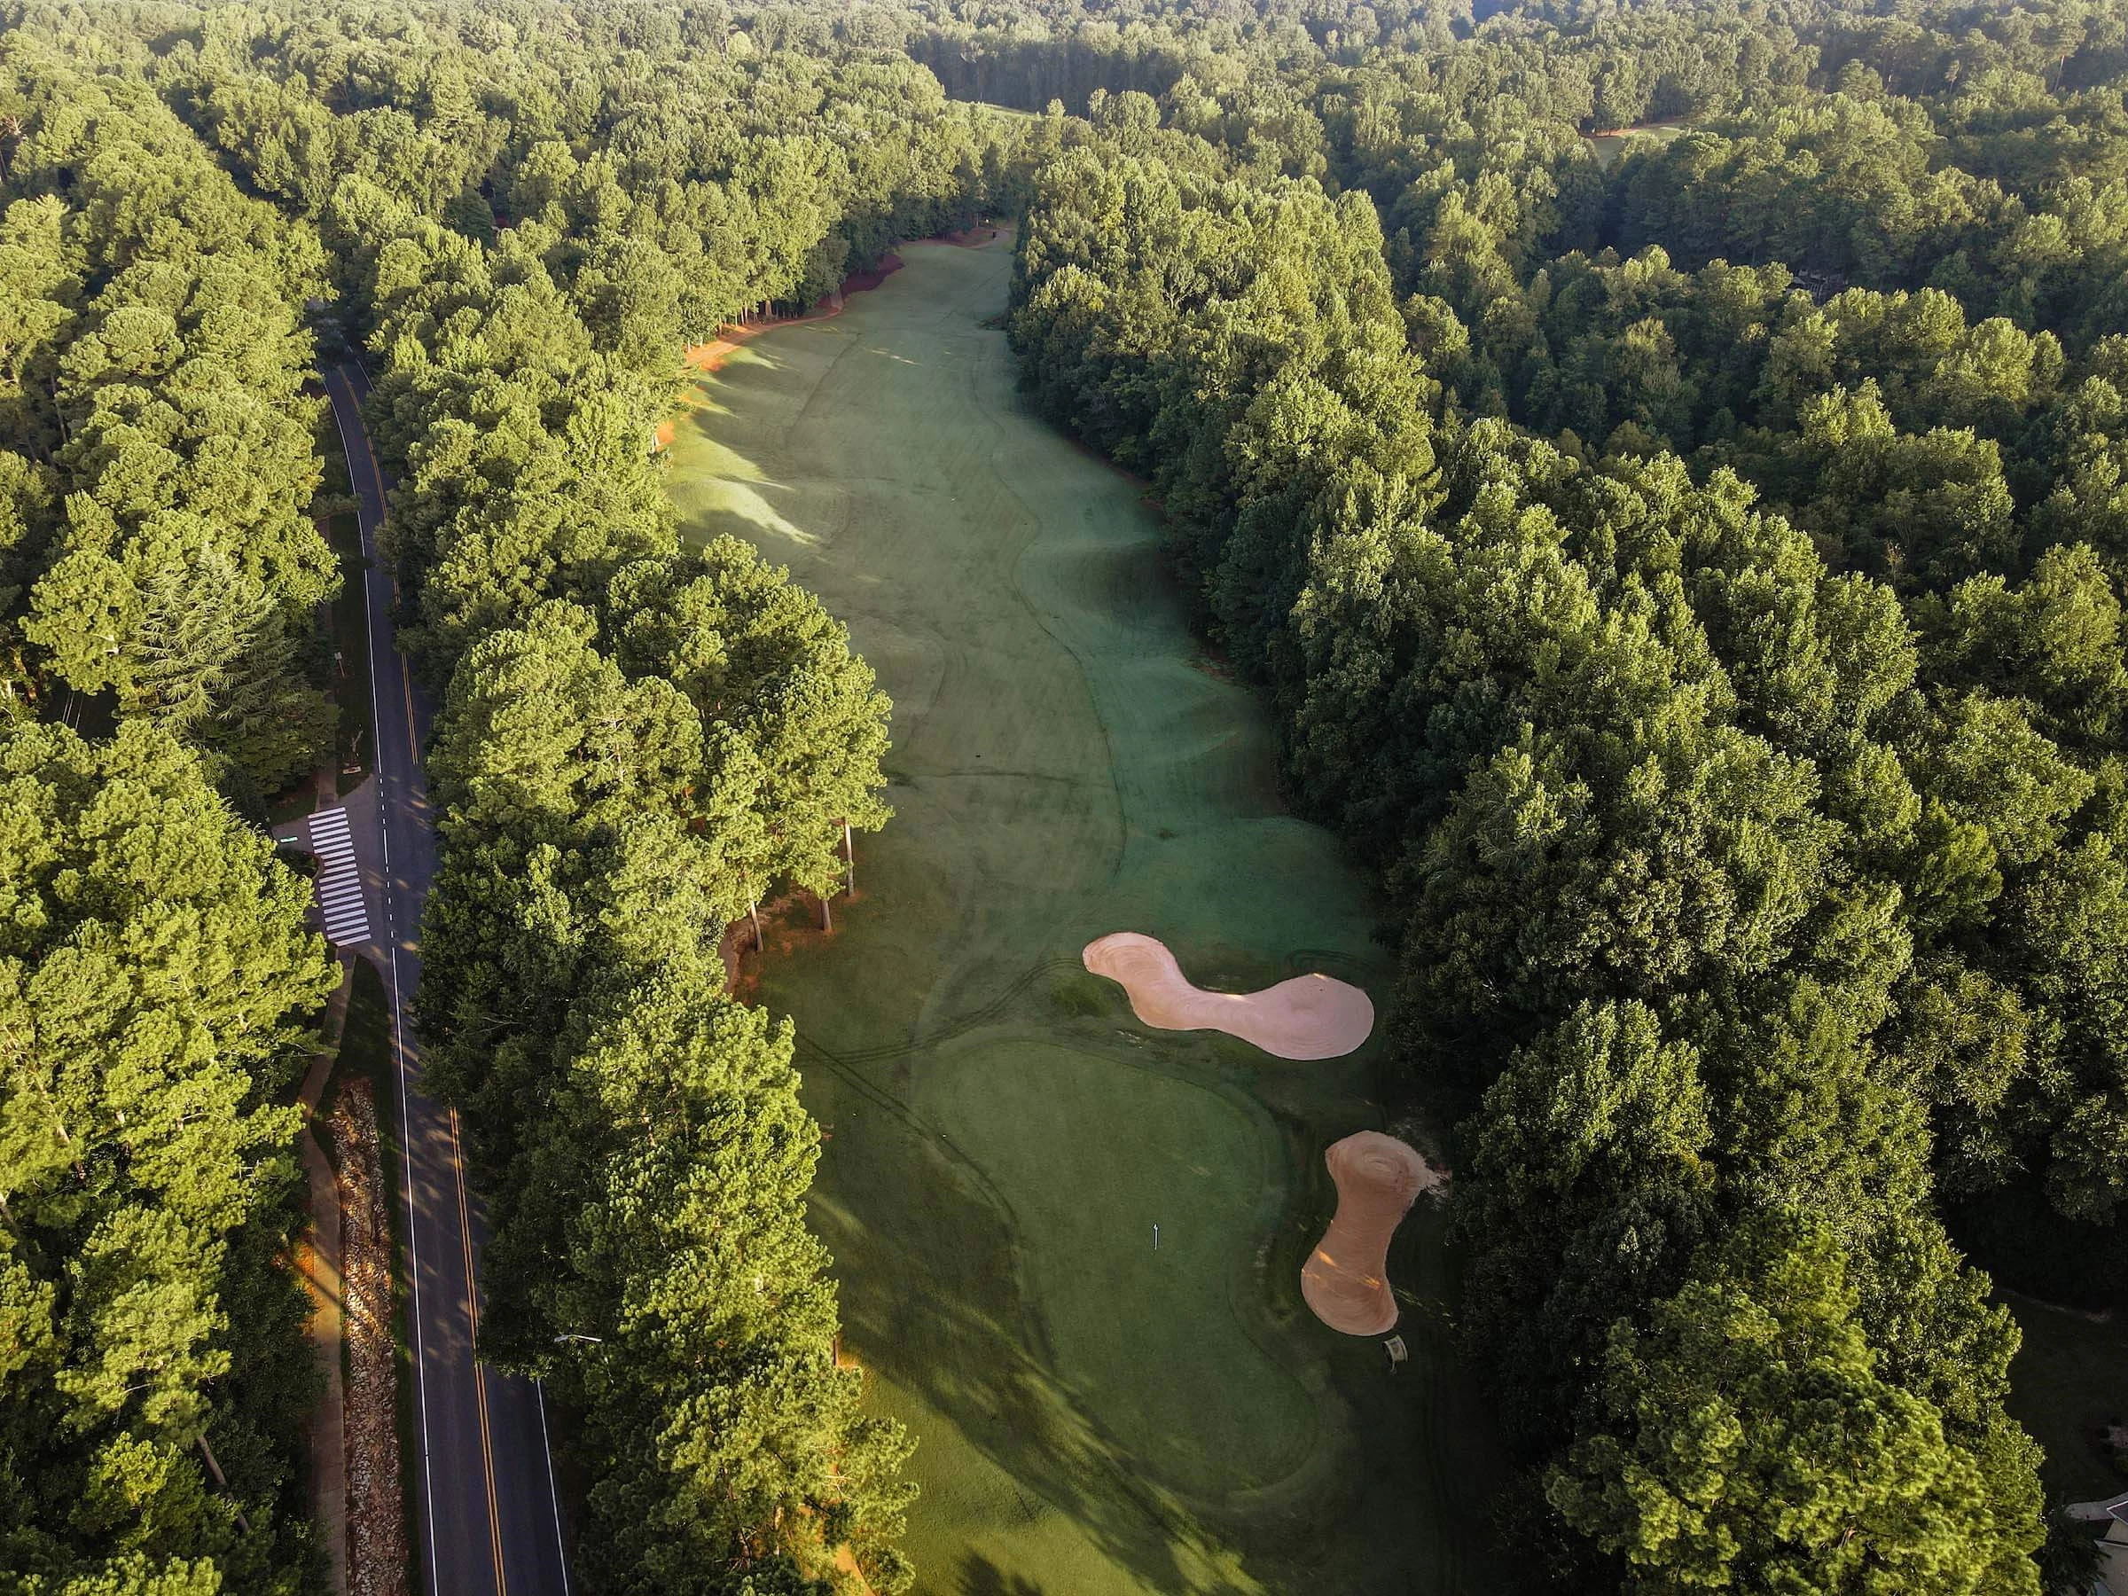
[[(266, 121), (379, 109), (347, 49), (438, 128), (434, 85), (487, 70), (498, 15), (436, 9), (402, 51), (313, 17), (228, 55), (272, 81)], [(830, 896), (845, 838), (887, 819), (887, 702), (785, 572), (681, 547), (649, 440), (683, 343), (970, 219), (1026, 134), (907, 62), (617, 57), (515, 15), (455, 194), (257, 111), (217, 134), (238, 168), (340, 151), (313, 211), (377, 362), (400, 619), (443, 694), (417, 1011), (492, 1198), (485, 1356), (575, 1415), (587, 1587), (904, 1590), (909, 1443), (834, 1356), (789, 1024), (726, 996), (719, 947), (775, 890)]]

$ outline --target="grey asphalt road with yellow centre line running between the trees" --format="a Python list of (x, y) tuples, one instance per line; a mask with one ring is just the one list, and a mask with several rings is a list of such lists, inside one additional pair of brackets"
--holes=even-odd
[[(368, 379), (355, 366), (326, 372), (347, 447), (362, 521), (377, 736), (375, 815), (351, 815), (377, 960), (392, 1002), (398, 1132), (404, 1158), (406, 1341), (413, 1347), (413, 1481), (421, 1579), (430, 1596), (568, 1596), (562, 1507), (547, 1447), (547, 1409), (532, 1381), (472, 1356), (479, 1328), (479, 1258), (487, 1238), (458, 1111), (421, 1092), (421, 1055), (406, 1004), (421, 981), (415, 930), (436, 872), (434, 811), (421, 772), (428, 706), (392, 630), (392, 577), (377, 553), (385, 483), (362, 426)], [(349, 809), (358, 809), (355, 802)]]

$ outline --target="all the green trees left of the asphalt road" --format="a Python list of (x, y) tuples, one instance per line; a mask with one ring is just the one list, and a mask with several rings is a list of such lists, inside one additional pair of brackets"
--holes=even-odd
[[(330, 728), (315, 234), (136, 72), (0, 38), (0, 1583), (323, 1579), (287, 1270)], [(83, 728), (81, 732), (72, 728)]]

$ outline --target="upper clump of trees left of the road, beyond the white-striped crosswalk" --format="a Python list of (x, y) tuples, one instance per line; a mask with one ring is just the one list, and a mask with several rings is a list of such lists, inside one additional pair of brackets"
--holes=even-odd
[(100, 698), (272, 792), (332, 728), (302, 394), (323, 253), (140, 79), (4, 49), (0, 694)]

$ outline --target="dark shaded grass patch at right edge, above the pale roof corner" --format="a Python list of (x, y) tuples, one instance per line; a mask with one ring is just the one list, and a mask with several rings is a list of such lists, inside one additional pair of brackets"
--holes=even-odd
[(2047, 1494), (2073, 1502), (2119, 1496), (2124, 1475), (2100, 1430), (2128, 1424), (2128, 1326), (2005, 1292), (2024, 1330), (2011, 1364), (2009, 1411), (2047, 1449)]

